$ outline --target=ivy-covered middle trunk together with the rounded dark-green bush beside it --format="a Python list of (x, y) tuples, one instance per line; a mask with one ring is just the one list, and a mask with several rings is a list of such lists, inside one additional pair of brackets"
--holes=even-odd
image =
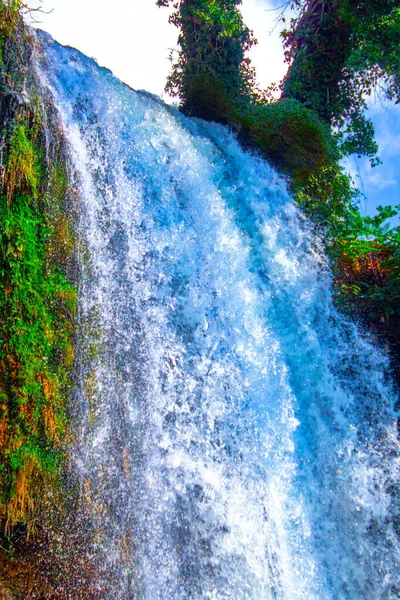
[(335, 143), (315, 111), (294, 99), (268, 103), (256, 88), (245, 58), (255, 40), (239, 5), (239, 0), (174, 4), (170, 20), (180, 30), (181, 51), (166, 89), (181, 98), (183, 112), (230, 124), (244, 144), (299, 179), (322, 165)]

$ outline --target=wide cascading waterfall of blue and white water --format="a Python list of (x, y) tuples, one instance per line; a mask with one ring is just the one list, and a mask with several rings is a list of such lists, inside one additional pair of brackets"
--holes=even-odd
[(74, 461), (102, 597), (400, 597), (387, 365), (284, 182), (39, 37), (78, 174)]

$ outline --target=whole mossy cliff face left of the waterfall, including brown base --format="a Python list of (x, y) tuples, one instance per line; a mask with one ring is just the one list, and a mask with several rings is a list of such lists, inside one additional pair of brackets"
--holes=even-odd
[(90, 525), (63, 454), (77, 277), (72, 172), (36, 74), (37, 42), (8, 5), (0, 13), (0, 599), (91, 599)]

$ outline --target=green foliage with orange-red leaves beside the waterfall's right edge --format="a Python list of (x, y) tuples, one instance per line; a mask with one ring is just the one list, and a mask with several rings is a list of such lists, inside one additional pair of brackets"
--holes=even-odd
[(338, 163), (294, 183), (300, 206), (324, 239), (342, 310), (361, 317), (400, 356), (400, 205), (362, 216), (360, 192)]

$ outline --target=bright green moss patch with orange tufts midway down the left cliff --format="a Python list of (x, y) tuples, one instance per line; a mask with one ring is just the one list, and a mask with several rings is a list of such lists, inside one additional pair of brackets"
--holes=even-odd
[[(2, 412), (0, 446), (5, 501), (13, 510), (21, 476), (46, 477), (65, 432), (65, 394), (73, 362), (76, 291), (47, 248), (60, 243), (32, 196), (0, 197)], [(51, 240), (51, 243), (50, 243)], [(51, 459), (51, 460), (50, 460)], [(32, 461), (35, 469), (29, 467)], [(32, 465), (31, 465), (32, 466)], [(28, 494), (29, 496), (29, 494)], [(28, 497), (27, 496), (27, 497)], [(12, 521), (28, 518), (19, 502)]]

